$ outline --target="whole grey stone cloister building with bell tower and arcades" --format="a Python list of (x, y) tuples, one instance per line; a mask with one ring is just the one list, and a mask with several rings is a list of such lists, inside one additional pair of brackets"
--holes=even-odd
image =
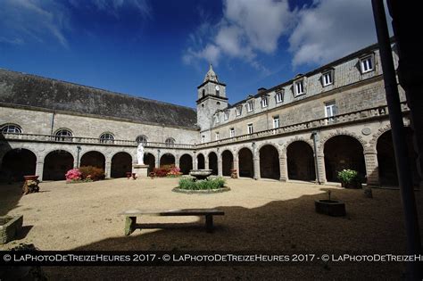
[[(395, 63), (396, 53), (393, 52)], [(400, 87), (402, 112), (409, 110)], [(230, 94), (228, 94), (230, 95)], [(197, 87), (197, 108), (0, 70), (3, 178), (63, 179), (94, 165), (124, 177), (145, 145), (150, 169), (175, 164), (229, 176), (337, 181), (356, 169), (369, 185), (395, 186), (394, 150), (377, 45), (254, 95), (228, 103), (212, 67)], [(413, 182), (419, 155), (406, 129)]]

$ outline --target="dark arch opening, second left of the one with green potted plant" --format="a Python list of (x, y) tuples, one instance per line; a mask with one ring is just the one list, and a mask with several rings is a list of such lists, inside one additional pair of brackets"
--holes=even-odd
[(261, 145), (260, 153), (260, 177), (280, 178), (279, 152), (275, 145)]

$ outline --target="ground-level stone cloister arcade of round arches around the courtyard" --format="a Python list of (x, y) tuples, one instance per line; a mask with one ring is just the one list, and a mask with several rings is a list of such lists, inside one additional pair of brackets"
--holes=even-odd
[[(337, 182), (337, 171), (356, 169), (369, 185), (395, 186), (398, 180), (390, 132), (387, 123), (369, 136), (340, 129), (321, 131), (315, 144), (317, 153), (310, 132), (196, 149), (145, 147), (144, 161), (149, 171), (175, 165), (184, 175), (191, 169), (211, 169), (213, 175), (228, 177), (235, 169), (239, 178), (320, 183)], [(411, 128), (405, 133), (413, 182), (419, 186)], [(46, 151), (46, 146), (51, 150)], [(9, 142), (6, 150), (4, 147), (0, 151), (2, 177), (15, 180), (30, 174), (62, 180), (67, 170), (87, 165), (104, 169), (107, 178), (122, 178), (137, 161), (132, 146)]]

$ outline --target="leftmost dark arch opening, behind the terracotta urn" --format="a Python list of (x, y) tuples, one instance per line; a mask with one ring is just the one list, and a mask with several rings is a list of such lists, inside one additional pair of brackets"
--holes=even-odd
[[(2, 177), (11, 181), (22, 181), (23, 176), (35, 175), (37, 154), (28, 148), (13, 148), (2, 157)], [(37, 175), (41, 176), (41, 175)]]

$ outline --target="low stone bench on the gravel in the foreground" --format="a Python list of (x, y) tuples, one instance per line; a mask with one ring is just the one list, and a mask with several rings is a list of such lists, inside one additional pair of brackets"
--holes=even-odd
[(213, 231), (213, 216), (223, 216), (224, 211), (218, 209), (182, 209), (182, 210), (129, 210), (123, 211), (120, 215), (125, 218), (125, 235), (129, 236), (135, 229), (142, 228), (163, 228), (163, 224), (137, 224), (137, 217), (139, 216), (205, 216), (205, 227), (207, 232)]

